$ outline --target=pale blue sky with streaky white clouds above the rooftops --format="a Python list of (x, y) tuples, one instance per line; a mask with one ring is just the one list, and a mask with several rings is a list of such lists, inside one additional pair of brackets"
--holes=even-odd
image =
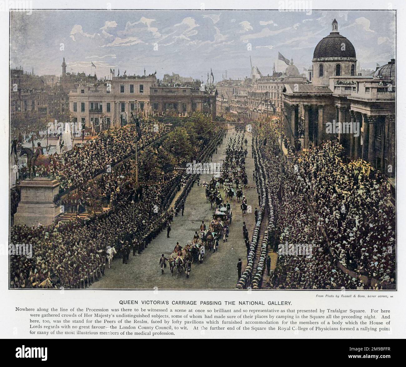
[[(10, 65), (37, 75), (91, 72), (108, 77), (157, 72), (214, 81), (250, 75), (253, 66), (272, 74), (281, 52), (302, 72), (317, 43), (331, 31), (355, 47), (364, 69), (395, 58), (394, 11), (86, 11), (11, 13)], [(279, 61), (279, 71), (287, 67)], [(93, 68), (92, 74), (95, 68)]]

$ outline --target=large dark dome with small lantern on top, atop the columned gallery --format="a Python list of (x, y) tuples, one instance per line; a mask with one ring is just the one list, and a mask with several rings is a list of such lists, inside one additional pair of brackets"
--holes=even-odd
[[(355, 49), (352, 43), (344, 36), (341, 36), (338, 32), (337, 21), (334, 19), (332, 23), (333, 31), (326, 37), (324, 37), (314, 49), (313, 58), (324, 57), (353, 57), (355, 56)], [(344, 43), (345, 49), (342, 50), (342, 44)]]

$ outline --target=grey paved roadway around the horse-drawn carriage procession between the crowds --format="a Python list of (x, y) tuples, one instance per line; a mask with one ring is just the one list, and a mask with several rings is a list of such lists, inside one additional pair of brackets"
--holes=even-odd
[[(218, 153), (213, 155), (212, 161), (222, 162), (225, 157), (226, 142), (234, 131), (233, 126), (229, 125), (228, 135), (223, 140), (223, 144), (218, 148)], [(245, 133), (248, 140), (248, 155), (246, 159), (246, 172), (248, 175), (248, 185), (255, 186), (253, 181), (254, 160), (251, 158), (251, 133)], [(201, 175), (201, 181), (209, 181), (210, 175)], [(182, 273), (178, 279), (171, 277), (169, 266), (165, 273), (161, 274), (159, 259), (164, 253), (166, 258), (178, 241), (184, 246), (188, 240), (192, 240), (194, 231), (199, 230), (201, 221), (206, 225), (210, 223), (214, 209), (210, 208), (210, 203), (206, 203), (205, 188), (197, 186), (192, 187), (185, 204), (184, 216), (181, 212), (174, 217), (171, 225), (170, 238), (166, 238), (166, 230), (161, 232), (143, 251), (141, 255), (133, 256), (130, 253), (128, 264), (122, 264), (121, 258), (116, 258), (112, 262), (110, 269), (106, 268), (105, 276), (99, 281), (93, 283), (92, 289), (151, 289), (158, 287), (160, 289), (233, 289), (238, 281), (237, 262), (242, 258), (243, 270), (246, 266), (246, 247), (242, 236), (242, 222), (245, 221), (251, 239), (253, 232), (255, 216), (254, 210), (258, 205), (257, 189), (248, 187), (244, 190), (248, 205), (252, 206), (252, 213), (247, 213), (242, 217), (240, 204), (234, 198), (231, 209), (233, 211), (233, 220), (229, 227), (228, 241), (220, 241), (219, 251), (216, 253), (207, 252), (203, 264), (192, 264), (190, 277), (187, 279), (185, 273)], [(222, 193), (222, 197), (224, 194)]]

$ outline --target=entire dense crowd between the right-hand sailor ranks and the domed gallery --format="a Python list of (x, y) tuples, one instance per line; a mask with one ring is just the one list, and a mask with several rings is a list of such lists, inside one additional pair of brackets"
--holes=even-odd
[[(344, 164), (338, 142), (326, 142), (299, 156), (292, 166), (282, 162), (276, 129), (261, 146), (272, 188), (276, 251), (308, 245), (311, 256), (282, 255), (271, 279), (274, 288), (360, 289), (367, 285), (337, 267), (379, 281), (395, 277), (395, 212), (383, 176), (364, 161)], [(256, 135), (264, 138), (264, 129)], [(282, 187), (280, 185), (282, 184)], [(282, 198), (281, 198), (282, 195)], [(279, 201), (282, 200), (281, 205)], [(309, 200), (309, 202), (307, 202)], [(280, 210), (279, 210), (280, 208)], [(314, 212), (313, 212), (314, 210)], [(380, 285), (371, 283), (371, 288)]]

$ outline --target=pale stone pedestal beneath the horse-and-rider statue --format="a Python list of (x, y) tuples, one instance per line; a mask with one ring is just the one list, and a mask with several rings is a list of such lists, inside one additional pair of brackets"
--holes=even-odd
[(35, 177), (19, 183), (21, 200), (14, 215), (15, 225), (32, 227), (40, 223), (50, 225), (60, 214), (60, 207), (55, 206), (54, 196), (59, 192), (59, 182), (52, 178)]

